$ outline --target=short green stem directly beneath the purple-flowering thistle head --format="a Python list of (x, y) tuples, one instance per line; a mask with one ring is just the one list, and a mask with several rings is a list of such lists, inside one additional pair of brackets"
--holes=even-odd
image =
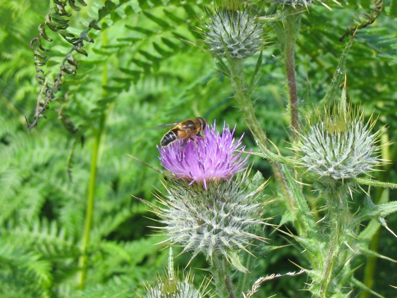
[(226, 258), (214, 255), (212, 261), (216, 293), (219, 297), (236, 298), (230, 279), (230, 266)]

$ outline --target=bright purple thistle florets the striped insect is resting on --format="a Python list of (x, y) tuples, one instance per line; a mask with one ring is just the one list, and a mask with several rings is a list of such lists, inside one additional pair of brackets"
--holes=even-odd
[(211, 128), (206, 126), (205, 138), (196, 138), (195, 142), (188, 141), (185, 147), (181, 148), (181, 141), (168, 147), (157, 147), (160, 161), (177, 178), (190, 180), (189, 185), (202, 183), (207, 189), (207, 182), (231, 178), (245, 169), (249, 155), (241, 157), (245, 149), (245, 146), (241, 146), (244, 134), (235, 143), (235, 130), (236, 126), (230, 132), (229, 126), (224, 124), (220, 135), (215, 131), (214, 122)]

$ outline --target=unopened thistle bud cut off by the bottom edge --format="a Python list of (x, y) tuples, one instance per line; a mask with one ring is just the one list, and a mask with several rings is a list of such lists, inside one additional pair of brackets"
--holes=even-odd
[(180, 281), (174, 271), (172, 248), (168, 257), (168, 272), (163, 278), (157, 279), (156, 287), (147, 287), (146, 298), (202, 298), (201, 289), (193, 286), (193, 276), (189, 273), (184, 281)]

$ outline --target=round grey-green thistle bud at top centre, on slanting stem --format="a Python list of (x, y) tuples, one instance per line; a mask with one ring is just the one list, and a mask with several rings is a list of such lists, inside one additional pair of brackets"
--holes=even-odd
[(263, 29), (248, 11), (219, 8), (204, 24), (205, 42), (215, 56), (244, 59), (262, 46)]

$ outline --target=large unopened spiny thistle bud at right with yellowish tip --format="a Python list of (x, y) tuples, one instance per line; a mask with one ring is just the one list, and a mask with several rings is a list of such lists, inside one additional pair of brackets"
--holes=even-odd
[(380, 131), (371, 133), (375, 125), (372, 116), (367, 123), (363, 113), (346, 107), (345, 90), (341, 101), (325, 116), (317, 113), (317, 123), (301, 134), (299, 150), (302, 163), (317, 173), (323, 181), (331, 182), (357, 177), (372, 171), (381, 160), (377, 157)]

